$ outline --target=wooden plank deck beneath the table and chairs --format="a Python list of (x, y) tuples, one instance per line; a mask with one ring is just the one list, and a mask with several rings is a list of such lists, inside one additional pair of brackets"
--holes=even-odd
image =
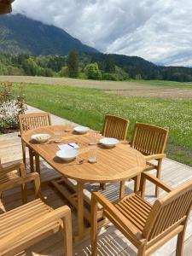
[[(29, 111), (37, 111), (37, 109), (29, 108)], [(65, 122), (64, 119), (51, 116), (53, 123), (56, 125), (62, 124)], [(7, 135), (0, 136), (0, 156), (3, 162), (9, 160), (21, 160), (21, 147), (20, 147), (20, 138), (17, 136), (17, 132)], [(52, 170), (43, 160), (41, 161), (41, 177), (43, 181), (48, 181), (51, 178), (57, 177), (58, 174)], [(179, 183), (192, 178), (192, 168), (189, 166), (184, 166), (180, 163), (177, 163), (172, 160), (164, 160), (163, 169), (162, 169), (162, 179), (171, 185), (172, 187), (177, 186)], [(108, 189), (104, 192), (105, 195), (113, 197), (118, 195), (119, 184), (108, 184)], [(127, 183), (127, 193), (130, 193), (133, 188), (133, 183)], [(147, 198), (148, 201), (154, 201), (154, 187), (147, 184)], [(95, 189), (95, 185), (90, 185), (88, 190)], [(109, 191), (110, 190), (110, 191)], [(49, 184), (44, 183), (42, 186), (43, 195), (47, 198), (47, 201), (50, 206), (56, 208), (64, 204), (67, 204), (67, 201), (64, 201), (61, 198), (61, 195)], [(161, 193), (163, 193), (161, 191)], [(32, 188), (28, 188), (28, 197), (29, 200), (32, 200)], [(0, 213), (8, 211), (9, 209), (20, 206), (21, 197), (20, 197), (20, 188), (12, 189), (3, 194), (3, 200), (0, 202)], [(77, 219), (76, 213), (73, 211), (73, 231), (76, 230)], [(116, 230), (112, 224), (108, 224), (105, 228), (102, 228), (100, 231), (100, 241), (99, 241), (99, 253), (98, 255), (107, 256), (107, 255), (130, 255), (136, 256), (137, 251), (133, 247), (130, 241), (127, 241), (125, 237)], [(172, 239), (166, 243), (164, 247), (161, 247), (156, 253), (155, 256), (173, 256), (175, 255), (175, 244), (176, 238)], [(39, 242), (35, 246), (28, 248), (25, 252), (21, 252), (18, 255), (63, 255), (62, 254), (62, 237), (61, 235), (56, 234), (55, 236), (50, 236), (48, 239)], [(73, 244), (73, 254), (74, 255), (90, 255), (90, 239), (89, 237), (85, 238), (79, 243)], [(192, 255), (192, 214), (189, 219), (189, 224), (185, 236), (185, 247), (184, 247), (184, 256)]]

